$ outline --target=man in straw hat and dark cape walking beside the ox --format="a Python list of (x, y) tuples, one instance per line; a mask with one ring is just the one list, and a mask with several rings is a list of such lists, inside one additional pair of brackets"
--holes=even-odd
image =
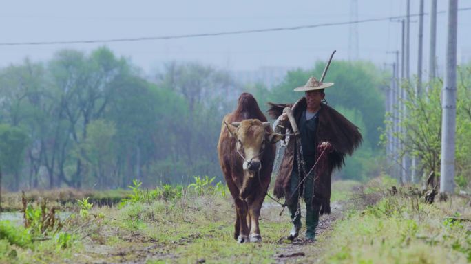
[[(301, 228), (300, 199), (306, 203), (306, 239), (314, 241), (322, 214), (330, 214), (331, 175), (344, 165), (345, 155), (352, 155), (362, 142), (357, 126), (324, 101), (324, 89), (333, 83), (321, 83), (315, 77), (294, 91), (304, 91), (295, 104), (269, 103), (269, 114), (277, 118), (273, 130), (293, 133), (285, 107), (290, 107), (299, 135), (286, 135), (286, 149), (275, 181), (274, 195), (284, 197), (293, 228), (288, 239), (295, 239)], [(315, 166), (314, 166), (315, 165)]]

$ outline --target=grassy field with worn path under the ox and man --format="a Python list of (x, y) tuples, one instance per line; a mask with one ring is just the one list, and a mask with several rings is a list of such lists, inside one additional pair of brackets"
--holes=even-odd
[[(206, 184), (205, 184), (206, 182)], [(471, 261), (468, 197), (424, 203), (393, 183), (375, 179), (333, 183), (333, 213), (323, 216), (317, 241), (284, 239), (291, 229), (287, 210), (266, 198), (260, 216), (262, 243), (233, 239), (235, 212), (225, 186), (208, 180), (188, 188), (141, 190), (127, 201), (67, 205), (61, 227), (44, 229), (36, 209), (28, 229), (0, 225), (3, 263), (467, 263)], [(27, 194), (28, 196), (28, 194)], [(21, 198), (19, 199), (21, 201)], [(45, 214), (50, 215), (49, 209)], [(34, 220), (30, 218), (30, 220)], [(44, 219), (41, 220), (41, 219)], [(36, 231), (34, 231), (36, 230)], [(301, 234), (304, 233), (302, 230)]]

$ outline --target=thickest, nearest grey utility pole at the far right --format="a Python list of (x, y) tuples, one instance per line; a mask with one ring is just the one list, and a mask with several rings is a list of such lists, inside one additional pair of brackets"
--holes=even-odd
[(454, 191), (454, 133), (457, 114), (457, 21), (458, 0), (448, 1), (446, 76), (441, 118), (440, 194)]

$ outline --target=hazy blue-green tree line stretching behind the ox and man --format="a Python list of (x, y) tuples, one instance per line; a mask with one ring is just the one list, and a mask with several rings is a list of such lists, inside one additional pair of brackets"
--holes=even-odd
[[(297, 69), (275, 87), (240, 85), (200, 63), (170, 62), (151, 78), (107, 47), (60, 50), (49, 61), (0, 69), (0, 171), (3, 188), (126, 188), (186, 184), (193, 175), (221, 179), (216, 145), (223, 116), (242, 91), (260, 107), (294, 102), (293, 88), (320, 76), (323, 63)], [(358, 155), (339, 177), (377, 170), (384, 73), (370, 63), (333, 62), (328, 103), (364, 133)]]

